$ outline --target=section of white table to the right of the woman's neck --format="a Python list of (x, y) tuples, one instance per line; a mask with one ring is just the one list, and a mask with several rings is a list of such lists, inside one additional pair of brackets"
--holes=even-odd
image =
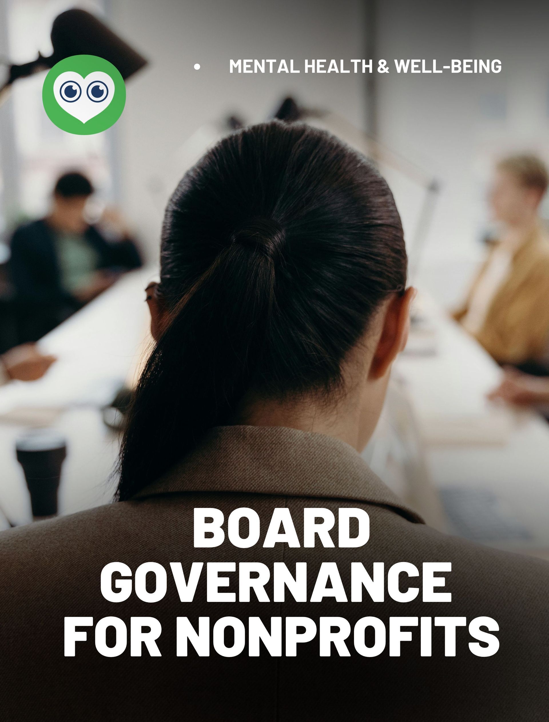
[(536, 412), (489, 402), (499, 366), (431, 300), (419, 304), (436, 352), (401, 355), (395, 373), (413, 407), (432, 486), (439, 495), (473, 492), (471, 503), (479, 490), (497, 497), (501, 513), (531, 538), (493, 546), (549, 558), (549, 424)]

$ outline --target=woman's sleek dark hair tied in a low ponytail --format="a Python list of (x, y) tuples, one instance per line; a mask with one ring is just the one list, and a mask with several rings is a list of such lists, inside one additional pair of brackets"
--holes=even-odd
[(242, 396), (330, 393), (375, 308), (405, 284), (400, 218), (364, 157), (301, 124), (228, 136), (164, 219), (170, 321), (136, 389), (117, 496), (232, 422)]

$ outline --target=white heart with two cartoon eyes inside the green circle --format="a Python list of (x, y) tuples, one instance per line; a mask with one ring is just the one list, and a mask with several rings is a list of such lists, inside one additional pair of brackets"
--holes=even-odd
[(53, 83), (53, 95), (61, 108), (82, 123), (102, 113), (114, 94), (113, 79), (100, 70), (85, 78), (69, 70), (58, 75)]

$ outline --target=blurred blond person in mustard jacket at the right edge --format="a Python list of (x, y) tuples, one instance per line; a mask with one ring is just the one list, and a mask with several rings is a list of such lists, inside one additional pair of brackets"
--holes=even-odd
[(524, 370), (549, 344), (549, 238), (539, 215), (548, 180), (535, 156), (499, 162), (489, 202), (501, 236), (454, 313), (497, 362)]

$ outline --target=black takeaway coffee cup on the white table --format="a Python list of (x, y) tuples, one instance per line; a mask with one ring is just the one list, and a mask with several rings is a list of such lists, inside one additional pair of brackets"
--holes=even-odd
[(66, 458), (66, 441), (50, 429), (28, 432), (15, 445), (17, 461), (25, 471), (35, 519), (55, 516), (61, 481), (61, 466)]

